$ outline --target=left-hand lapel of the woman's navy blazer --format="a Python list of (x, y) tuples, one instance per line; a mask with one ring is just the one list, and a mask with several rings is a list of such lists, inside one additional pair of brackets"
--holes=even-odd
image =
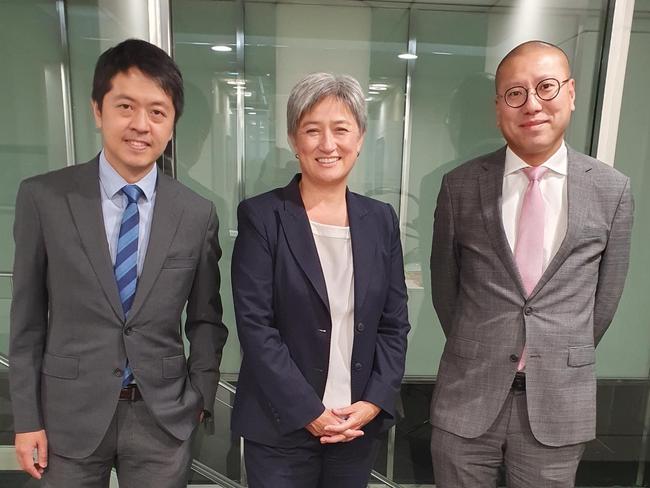
[(318, 259), (318, 251), (307, 212), (300, 196), (299, 181), (300, 176), (296, 175), (291, 183), (283, 189), (284, 210), (279, 212), (280, 222), (291, 253), (329, 311), (325, 277)]

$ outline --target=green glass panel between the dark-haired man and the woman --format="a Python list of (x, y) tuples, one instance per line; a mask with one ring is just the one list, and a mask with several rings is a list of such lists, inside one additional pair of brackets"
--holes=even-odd
[[(223, 256), (221, 299), (230, 336), (221, 372), (239, 372), (241, 357), (230, 286), (230, 260), (237, 232), (237, 90), (240, 68), (235, 2), (188, 0), (171, 3), (174, 57), (183, 73), (185, 112), (176, 128), (178, 180), (213, 201), (219, 216)], [(222, 46), (230, 51), (214, 51)]]

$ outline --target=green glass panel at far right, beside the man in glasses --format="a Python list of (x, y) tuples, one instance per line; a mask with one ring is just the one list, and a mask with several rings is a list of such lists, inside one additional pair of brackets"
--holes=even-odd
[[(650, 0), (636, 0), (614, 166), (634, 195), (631, 266), (611, 331), (598, 347), (599, 375), (647, 378), (650, 371)], [(624, 358), (624, 360), (621, 360)]]

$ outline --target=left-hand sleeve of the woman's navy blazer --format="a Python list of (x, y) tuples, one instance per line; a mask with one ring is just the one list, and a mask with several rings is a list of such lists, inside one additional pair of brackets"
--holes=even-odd
[(278, 428), (305, 427), (325, 407), (295, 364), (274, 324), (274, 252), (262, 220), (249, 202), (237, 209), (238, 234), (232, 259), (237, 332), (246, 366), (269, 404), (279, 413)]

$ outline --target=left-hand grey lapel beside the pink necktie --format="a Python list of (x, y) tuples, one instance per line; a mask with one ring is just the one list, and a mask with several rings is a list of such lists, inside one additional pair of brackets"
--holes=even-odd
[(484, 172), (479, 176), (479, 193), (481, 212), (485, 229), (499, 259), (506, 268), (519, 293), (526, 296), (526, 291), (519, 276), (508, 238), (503, 229), (501, 217), (501, 197), (503, 193), (503, 172), (505, 168), (506, 148), (489, 155), (483, 161)]

